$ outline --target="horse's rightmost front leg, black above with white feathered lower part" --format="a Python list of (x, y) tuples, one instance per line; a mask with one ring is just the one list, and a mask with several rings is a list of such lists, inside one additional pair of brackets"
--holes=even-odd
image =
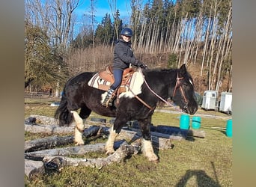
[(150, 133), (150, 119), (145, 120), (138, 120), (141, 133), (142, 133), (142, 152), (144, 153), (144, 156), (147, 157), (149, 161), (158, 161), (159, 158), (156, 156), (156, 154), (153, 152), (153, 146), (151, 142), (151, 133)]

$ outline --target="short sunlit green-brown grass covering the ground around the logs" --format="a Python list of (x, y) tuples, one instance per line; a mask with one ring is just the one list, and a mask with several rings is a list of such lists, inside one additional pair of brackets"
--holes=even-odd
[[(53, 117), (55, 109), (49, 106), (49, 102), (25, 102), (25, 117), (31, 114)], [(213, 111), (204, 114), (210, 112)], [(226, 115), (219, 112), (214, 114)], [(155, 112), (152, 123), (179, 126), (179, 116)], [(100, 116), (92, 113), (90, 117)], [(159, 163), (148, 162), (142, 154), (138, 154), (101, 169), (67, 167), (37, 175), (32, 180), (25, 177), (25, 186), (232, 186), (232, 138), (225, 135), (225, 129), (210, 128), (223, 128), (225, 124), (226, 120), (222, 118), (201, 117), (201, 130), (206, 132), (206, 138), (190, 137), (173, 141), (172, 150), (156, 150)], [(25, 132), (27, 140), (40, 136), (44, 135)], [(97, 142), (106, 142), (106, 138), (100, 138)], [(103, 153), (85, 155), (86, 158), (104, 156)]]

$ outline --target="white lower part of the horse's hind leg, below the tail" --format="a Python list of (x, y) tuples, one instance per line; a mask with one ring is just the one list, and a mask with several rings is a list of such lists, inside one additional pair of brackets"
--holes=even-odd
[(85, 142), (82, 139), (82, 131), (85, 129), (85, 125), (83, 123), (83, 120), (76, 111), (70, 111), (70, 112), (73, 114), (73, 117), (76, 121), (76, 128), (75, 128), (75, 142), (76, 142), (76, 145), (85, 144)]

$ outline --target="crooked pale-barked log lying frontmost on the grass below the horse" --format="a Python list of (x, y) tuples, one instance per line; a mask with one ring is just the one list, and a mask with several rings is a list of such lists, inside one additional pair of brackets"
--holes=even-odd
[(122, 162), (127, 156), (138, 154), (138, 147), (127, 144), (124, 141), (123, 144), (110, 156), (106, 158), (98, 159), (76, 159), (66, 156), (45, 156), (43, 162), (45, 162), (46, 168), (54, 168), (60, 170), (66, 166), (87, 166), (91, 168), (103, 168), (105, 165), (112, 164), (112, 162)]

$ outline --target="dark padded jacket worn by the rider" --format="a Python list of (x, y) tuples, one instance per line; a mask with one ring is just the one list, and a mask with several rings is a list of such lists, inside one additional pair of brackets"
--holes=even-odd
[(114, 64), (115, 69), (124, 70), (129, 67), (129, 64), (136, 64), (136, 58), (133, 55), (131, 43), (119, 40), (114, 49)]

